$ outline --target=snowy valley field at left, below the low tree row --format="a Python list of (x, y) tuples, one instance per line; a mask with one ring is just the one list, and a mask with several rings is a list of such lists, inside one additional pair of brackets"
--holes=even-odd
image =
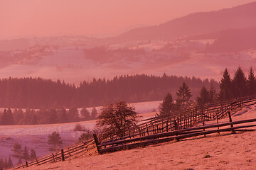
[[(143, 118), (149, 118), (155, 115), (154, 111), (158, 111), (158, 106), (161, 101), (151, 101), (142, 103), (131, 103), (131, 106), (136, 108), (137, 113), (140, 113)], [(100, 111), (101, 107), (97, 107)], [(88, 108), (90, 111), (92, 108)], [(85, 122), (79, 122), (85, 128), (92, 130), (95, 127), (96, 120), (90, 120)], [(9, 157), (14, 154), (11, 149), (15, 142), (21, 143), (21, 146), (25, 145), (29, 149), (35, 149), (38, 157), (48, 155), (52, 153), (50, 146), (47, 144), (48, 135), (51, 132), (58, 132), (63, 145), (61, 147), (68, 147), (75, 144), (78, 141), (78, 137), (82, 132), (75, 132), (73, 129), (77, 123), (63, 123), (52, 125), (15, 125), (15, 126), (0, 126), (0, 158)], [(14, 165), (18, 162), (18, 159), (11, 157)]]

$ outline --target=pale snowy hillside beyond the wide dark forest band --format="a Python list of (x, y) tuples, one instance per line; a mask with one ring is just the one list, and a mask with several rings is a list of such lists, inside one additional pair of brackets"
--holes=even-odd
[[(46, 47), (42, 53), (24, 55), (21, 61), (2, 64), (0, 77), (42, 77), (65, 80), (80, 84), (93, 78), (112, 79), (121, 74), (154, 74), (187, 76), (220, 80), (227, 67), (233, 74), (239, 66), (248, 71), (256, 65), (255, 50), (228, 54), (206, 54), (204, 47), (210, 40), (127, 42), (106, 46), (110, 52), (104, 60), (85, 55), (90, 45), (68, 45), (58, 48)], [(128, 50), (127, 50), (128, 49)], [(129, 54), (129, 50), (141, 49), (142, 53)], [(127, 50), (127, 51), (125, 51)], [(97, 52), (97, 51), (96, 51)], [(14, 51), (13, 53), (16, 53)], [(12, 54), (12, 53), (11, 53)], [(14, 55), (14, 54), (12, 54)], [(10, 55), (9, 58), (12, 57)], [(184, 69), (185, 68), (185, 69)], [(256, 68), (254, 68), (256, 69)]]

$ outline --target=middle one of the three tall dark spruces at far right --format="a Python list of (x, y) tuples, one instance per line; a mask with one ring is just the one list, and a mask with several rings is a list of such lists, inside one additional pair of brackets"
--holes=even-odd
[(235, 77), (233, 79), (233, 94), (234, 97), (244, 97), (247, 95), (247, 84), (244, 72), (242, 72), (241, 67), (238, 67), (235, 72)]

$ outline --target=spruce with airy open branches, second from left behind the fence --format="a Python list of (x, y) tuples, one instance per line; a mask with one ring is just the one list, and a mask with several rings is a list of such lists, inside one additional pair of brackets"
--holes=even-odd
[(189, 99), (191, 98), (191, 90), (188, 89), (188, 85), (185, 82), (181, 86), (178, 87), (178, 92), (176, 93), (178, 98), (176, 101), (176, 106), (179, 109), (188, 108)]

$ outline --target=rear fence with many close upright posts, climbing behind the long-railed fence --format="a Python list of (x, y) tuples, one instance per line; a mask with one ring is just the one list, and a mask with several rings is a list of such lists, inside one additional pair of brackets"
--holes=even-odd
[[(231, 113), (231, 111), (233, 111), (235, 108), (250, 106), (255, 103), (256, 96), (247, 96), (244, 98), (236, 98), (231, 101), (225, 101), (223, 103), (196, 106), (186, 111), (174, 112), (171, 114), (142, 120), (144, 123), (129, 128), (122, 137), (112, 135), (108, 139), (99, 139), (99, 141), (101, 141), (101, 144), (114, 144), (114, 142), (117, 141), (128, 139), (132, 140), (132, 138), (140, 139), (140, 137), (146, 137), (150, 135), (154, 136), (164, 132), (188, 129), (198, 123), (205, 125), (205, 122), (210, 120), (216, 120), (218, 123), (219, 119), (227, 116), (228, 113)], [(100, 147), (107, 147), (107, 145), (100, 145)]]

